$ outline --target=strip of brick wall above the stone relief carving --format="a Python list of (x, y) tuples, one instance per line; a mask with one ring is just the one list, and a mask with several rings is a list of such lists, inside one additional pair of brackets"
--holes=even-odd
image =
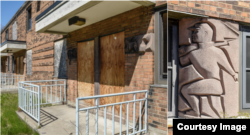
[(250, 22), (248, 0), (168, 0), (168, 9), (210, 17)]

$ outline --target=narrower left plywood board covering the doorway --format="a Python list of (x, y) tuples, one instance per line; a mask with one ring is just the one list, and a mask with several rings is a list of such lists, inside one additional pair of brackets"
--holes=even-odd
[[(77, 45), (78, 96), (94, 95), (94, 40), (80, 42)], [(94, 100), (85, 103), (93, 105)]]

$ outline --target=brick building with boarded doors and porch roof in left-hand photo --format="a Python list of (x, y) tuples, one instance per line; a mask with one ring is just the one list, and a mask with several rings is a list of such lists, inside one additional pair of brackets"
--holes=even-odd
[[(1, 71), (24, 75), (25, 80), (66, 79), (71, 106), (77, 97), (149, 90), (149, 132), (165, 135), (166, 3), (26, 1), (0, 32), (1, 47), (7, 46), (1, 51), (6, 53), (1, 57)], [(133, 97), (102, 103), (129, 99)]]

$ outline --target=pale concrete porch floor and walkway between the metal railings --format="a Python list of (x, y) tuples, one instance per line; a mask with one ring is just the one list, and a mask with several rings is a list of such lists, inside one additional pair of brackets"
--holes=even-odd
[[(24, 112), (16, 112), (17, 115), (29, 126), (39, 132), (40, 135), (75, 135), (75, 108), (67, 105), (57, 105), (41, 108), (41, 127), (38, 129), (38, 124), (35, 120), (29, 117)], [(86, 134), (86, 112), (80, 112), (80, 135)], [(126, 126), (122, 126), (122, 131), (125, 133)], [(115, 122), (115, 133), (119, 134), (120, 126)], [(98, 118), (98, 134), (104, 134), (104, 119)], [(107, 135), (112, 134), (112, 121), (107, 120)], [(95, 135), (95, 115), (89, 114), (89, 135)]]

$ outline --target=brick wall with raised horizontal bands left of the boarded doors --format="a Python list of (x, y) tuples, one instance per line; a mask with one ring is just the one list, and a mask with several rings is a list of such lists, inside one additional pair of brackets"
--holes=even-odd
[(37, 1), (31, 3), (32, 29), (26, 34), (26, 42), (27, 50), (32, 50), (32, 75), (27, 75), (26, 80), (54, 79), (54, 41), (63, 36), (35, 32), (35, 18), (53, 3), (53, 0), (41, 1), (39, 12), (37, 12)]

